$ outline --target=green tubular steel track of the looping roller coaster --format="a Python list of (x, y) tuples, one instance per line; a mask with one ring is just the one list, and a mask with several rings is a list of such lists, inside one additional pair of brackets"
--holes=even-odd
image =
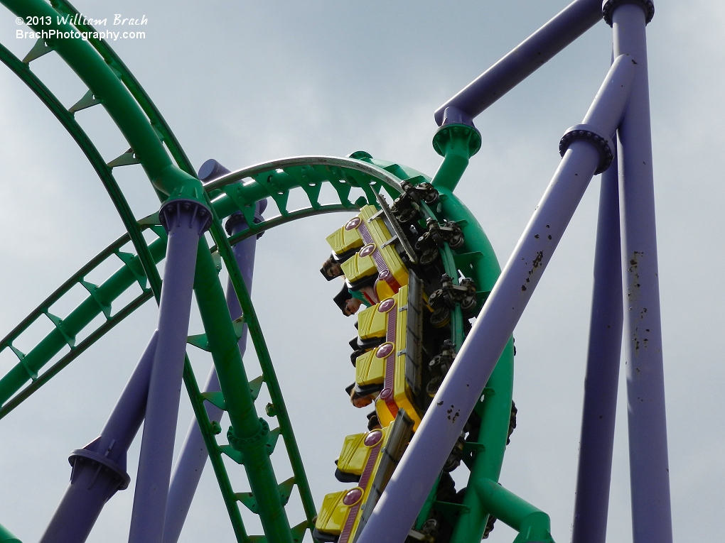
[[(52, 7), (42, 0), (2, 1), (9, 9), (21, 17), (40, 14), (53, 17), (57, 13), (72, 16), (78, 13), (74, 7), (64, 0), (51, 0)], [(71, 25), (60, 24), (56, 26), (63, 30), (72, 30)], [(90, 25), (79, 24), (75, 28), (78, 28), (81, 32), (94, 31)], [(81, 98), (78, 104), (72, 106), (70, 110), (62, 106), (49, 89), (30, 71), (28, 66), (30, 61), (51, 50), (56, 51), (72, 67), (89, 89), (86, 96)], [(214, 219), (211, 234), (216, 244), (212, 251), (218, 251), (228, 269), (234, 291), (244, 311), (244, 321), (249, 327), (249, 333), (252, 336), (252, 342), (262, 366), (262, 376), (248, 381), (241, 358), (231, 364), (228, 361), (223, 361), (223, 355), (220, 352), (222, 349), (219, 348), (219, 345), (231, 345), (232, 342), (236, 342), (237, 331), (240, 327), (235, 327), (229, 321), (228, 314), (227, 318), (223, 318), (223, 297), (219, 297), (221, 292), (220, 282), (212, 258), (210, 258), (210, 248), (202, 240), (197, 275), (204, 279), (199, 279), (199, 285), (195, 285), (196, 295), (197, 298), (204, 298), (203, 292), (213, 291), (213, 294), (208, 294), (208, 296), (217, 301), (208, 303), (207, 307), (202, 311), (202, 320), (207, 334), (203, 334), (203, 338), (190, 337), (189, 342), (196, 346), (203, 345), (210, 350), (212, 357), (215, 358), (215, 364), (218, 363), (223, 390), (227, 392), (226, 395), (224, 393), (221, 395), (202, 394), (196, 382), (196, 377), (191, 370), (188, 357), (185, 362), (184, 381), (191, 398), (191, 404), (194, 407), (194, 413), (202, 428), (204, 442), (210, 452), (212, 467), (215, 470), (236, 539), (239, 542), (260, 542), (264, 540), (263, 537), (260, 539), (260, 536), (247, 535), (239, 510), (239, 502), (242, 502), (252, 512), (259, 514), (263, 518), (265, 508), (270, 507), (265, 503), (269, 503), (271, 499), (272, 502), (284, 505), (289, 498), (292, 484), (297, 484), (302, 505), (305, 508), (306, 521), (294, 527), (289, 526), (289, 523), (286, 522), (283, 523), (284, 526), (265, 524), (265, 531), (270, 529), (279, 536), (278, 539), (280, 540), (301, 540), (305, 530), (310, 528), (312, 516), (315, 515), (315, 506), (312, 502), (302, 459), (299, 457), (297, 442), (292, 433), (289, 416), (283, 403), (281, 390), (279, 389), (262, 329), (254, 311), (252, 300), (249, 298), (249, 292), (241, 279), (239, 267), (231, 253), (231, 246), (239, 243), (245, 237), (257, 235), (269, 228), (305, 216), (336, 211), (354, 211), (364, 203), (374, 203), (376, 193), (379, 193), (382, 189), (386, 190), (394, 198), (400, 193), (399, 182), (401, 180), (418, 183), (429, 181), (429, 178), (415, 172), (413, 169), (392, 162), (372, 159), (368, 153), (358, 152), (353, 153), (348, 159), (297, 157), (259, 164), (239, 172), (232, 172), (219, 180), (215, 180), (207, 184), (202, 192), (201, 183), (196, 180), (194, 169), (183, 149), (179, 146), (173, 132), (171, 132), (156, 106), (141, 88), (141, 85), (138, 84), (135, 77), (107, 43), (94, 38), (90, 38), (88, 42), (68, 40), (53, 43), (49, 41), (47, 45), (46, 43), (36, 43), (33, 51), (35, 51), (34, 54), (26, 57), (28, 62), (21, 62), (4, 46), (0, 45), (0, 60), (41, 98), (43, 104), (49, 107), (62, 125), (70, 132), (72, 138), (78, 143), (83, 152), (86, 153), (88, 160), (91, 161), (101, 182), (103, 182), (109, 196), (112, 198), (128, 235), (121, 237), (78, 271), (0, 342), (0, 350), (9, 348), (19, 359), (17, 365), (0, 379), (0, 418), (6, 416), (9, 411), (12, 411), (23, 400), (32, 395), (39, 387), (48, 382), (52, 376), (65, 368), (93, 342), (102, 337), (146, 300), (155, 295), (158, 301), (161, 279), (156, 264), (162, 260), (165, 253), (165, 233), (157, 227), (157, 218), (152, 217), (140, 222), (136, 221), (112, 175), (112, 168), (115, 166), (141, 164), (160, 200), (165, 200), (167, 195), (170, 194), (198, 198), (205, 200), (212, 209)], [(75, 111), (80, 111), (80, 109), (95, 104), (104, 105), (104, 108), (131, 146), (130, 153), (123, 153), (118, 159), (108, 164), (101, 159), (95, 146), (74, 117)], [(466, 137), (470, 140), (471, 135), (468, 134)], [(438, 138), (437, 135), (436, 138)], [(478, 222), (473, 218), (470, 211), (452, 194), (453, 188), (455, 188), (460, 175), (463, 174), (465, 166), (468, 164), (468, 156), (465, 155), (470, 150), (469, 140), (463, 141), (452, 136), (448, 141), (439, 138), (437, 143), (441, 146), (443, 151), (441, 154), (445, 158), (439, 173), (436, 174), (434, 185), (442, 195), (441, 203), (435, 210), (424, 208), (424, 211), (432, 217), (439, 216), (455, 220), (462, 226), (465, 235), (463, 247), (465, 252), (457, 251), (454, 254), (449, 247), (444, 247), (442, 251), (444, 267), (455, 282), (457, 282), (456, 270), (462, 271), (466, 277), (472, 277), (479, 287), (479, 302), (484, 303), (486, 293), (491, 290), (500, 273), (500, 268)], [(166, 150), (175, 161), (175, 165), (170, 160)], [(436, 148), (436, 150), (438, 149)], [(238, 182), (244, 179), (250, 181)], [(336, 190), (339, 204), (320, 203), (320, 190), (325, 182), (328, 182)], [(288, 209), (289, 193), (294, 188), (302, 188), (305, 191), (310, 200), (311, 207), (309, 209), (291, 211)], [(360, 188), (364, 193), (364, 196), (357, 198), (355, 202), (349, 199), (353, 188)], [(272, 198), (280, 214), (260, 224), (254, 224), (252, 220), (254, 204), (262, 198)], [(250, 224), (251, 227), (230, 238), (224, 235), (220, 219), (236, 211), (241, 211), (244, 214), (247, 218), (247, 224)], [(141, 232), (145, 227), (149, 226), (159, 235), (159, 239), (150, 245), (146, 244)], [(133, 244), (136, 255), (120, 253), (120, 248), (129, 241)], [(123, 262), (121, 269), (101, 285), (91, 285), (86, 282), (85, 277), (113, 254), (117, 254)], [(141, 295), (138, 295), (120, 310), (111, 313), (111, 303), (136, 282), (141, 285)], [(146, 287), (146, 282), (149, 283), (150, 287)], [(63, 319), (49, 313), (49, 308), (78, 284), (88, 290), (88, 298)], [(202, 302), (201, 305), (203, 306), (204, 303)], [(75, 345), (75, 336), (80, 334), (86, 325), (101, 313), (106, 316), (106, 321), (88, 334), (86, 339)], [(48, 318), (54, 325), (54, 329), (25, 355), (17, 350), (13, 342), (30, 327), (30, 324), (41, 318)], [(463, 341), (463, 317), (460, 315), (460, 307), (455, 309), (452, 322), (453, 339), (457, 348), (460, 348), (460, 343)], [(219, 324), (223, 332), (215, 332), (217, 327), (212, 326), (212, 323)], [(215, 334), (216, 338), (214, 338)], [(65, 347), (69, 348), (70, 352), (59, 358), (49, 369), (38, 374), (42, 366)], [(231, 373), (224, 376), (229, 371)], [(23, 384), (28, 381), (30, 381), (30, 384), (20, 390)], [(244, 384), (244, 390), (249, 390), (249, 395), (243, 391), (241, 397), (234, 400), (233, 385), (238, 385), (240, 382)], [(221, 459), (222, 455), (228, 455), (229, 458), (239, 462), (244, 460), (246, 452), (247, 457), (256, 455), (258, 460), (264, 460), (264, 455), (260, 452), (259, 445), (261, 442), (255, 445), (257, 446), (256, 452), (252, 450), (254, 447), (245, 449), (244, 447), (235, 448), (231, 445), (219, 445), (215, 435), (220, 432), (220, 426), (217, 421), (210, 421), (208, 418), (204, 408), (204, 401), (210, 401), (227, 409), (234, 428), (234, 430), (230, 429), (230, 436), (235, 439), (240, 437), (235, 435), (237, 427), (243, 428), (247, 425), (250, 432), (259, 429), (259, 426), (254, 426), (252, 423), (256, 419), (254, 400), (259, 394), (262, 382), (267, 385), (272, 399), (270, 414), (276, 416), (279, 424), (278, 430), (268, 432), (269, 438), (262, 444), (262, 449), (265, 447), (266, 450), (273, 449), (276, 436), (281, 434), (293, 468), (294, 480), (277, 484), (274, 481), (273, 473), (271, 473), (272, 479), (269, 478), (270, 473), (265, 473), (266, 479), (260, 483), (262, 487), (259, 488), (260, 484), (257, 484), (256, 496), (249, 492), (235, 493)], [(544, 513), (535, 510), (523, 500), (512, 497), (513, 494), (506, 494), (508, 491), (495, 492), (495, 489), (492, 490), (492, 487), (486, 483), (486, 481), (496, 482), (500, 475), (503, 453), (505, 452), (505, 441), (508, 434), (512, 390), (513, 343), (510, 342), (488, 384), (486, 384), (481, 403), (476, 408), (481, 415), (479, 442), (466, 445), (464, 461), (471, 469), (468, 487), (476, 489), (476, 492), (467, 492), (462, 505), (432, 501), (429, 504), (430, 507), (438, 508), (455, 521), (455, 531), (452, 536), (454, 542), (463, 543), (477, 540), (476, 537), (480, 539), (488, 516), (486, 506), (495, 510), (504, 521), (507, 521), (507, 511), (509, 510), (507, 505), (501, 505), (504, 502), (505, 504), (514, 504), (510, 505), (510, 508), (513, 509), (510, 509), (512, 512), (508, 514), (508, 517), (518, 519), (515, 523), (529, 523), (531, 518), (534, 518), (534, 521), (542, 524), (543, 521), (540, 521), (541, 516), (546, 517)], [(230, 405), (235, 403), (239, 405), (236, 405), (236, 408), (230, 408)], [(249, 415), (252, 412), (254, 412), (254, 416)], [(244, 415), (244, 413), (247, 413), (247, 415)], [(249, 426), (249, 424), (252, 424), (252, 426)], [(268, 452), (268, 454), (270, 453), (271, 451)], [(255, 465), (259, 466), (260, 464)], [(249, 473), (249, 466), (245, 466), (245, 468)], [(250, 482), (252, 479), (253, 477), (250, 477)], [(500, 496), (501, 503), (496, 502), (496, 496)], [(522, 505), (522, 503), (525, 505)], [(277, 506), (273, 504), (272, 508), (275, 507)], [(517, 507), (518, 509), (516, 509)], [(516, 510), (514, 511), (514, 509)], [(523, 513), (521, 513), (522, 511)], [(532, 511), (533, 513), (531, 513)], [(529, 515), (526, 517), (529, 520), (521, 521), (524, 513)], [(520, 526), (514, 527), (515, 529), (520, 528)], [(539, 529), (539, 531), (542, 530)]]

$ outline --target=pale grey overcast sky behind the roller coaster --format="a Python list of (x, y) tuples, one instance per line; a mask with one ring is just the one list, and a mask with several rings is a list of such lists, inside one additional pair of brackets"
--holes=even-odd
[[(115, 14), (146, 16), (145, 39), (112, 47), (197, 168), (212, 157), (239, 169), (284, 156), (364, 149), (432, 175), (441, 160), (431, 146), (434, 110), (566, 4), (77, 0), (75, 7), (108, 17), (109, 25)], [(33, 41), (16, 39), (24, 27), (3, 12), (0, 41), (22, 58)], [(712, 539), (725, 529), (725, 296), (718, 280), (725, 267), (724, 26), (720, 3), (659, 1), (647, 34), (678, 541)], [(581, 122), (599, 88), (610, 51), (611, 30), (600, 22), (476, 119), (483, 147), (457, 193), (502, 264), (560, 161), (561, 135)], [(55, 54), (32, 68), (66, 106), (86, 92)], [(4, 336), (123, 226), (70, 136), (4, 67), (0, 96)], [(76, 118), (105, 159), (128, 148), (100, 107)], [(140, 167), (115, 174), (136, 216), (157, 210)], [(559, 543), (571, 538), (598, 193), (595, 177), (515, 331), (518, 428), (501, 482), (549, 513)], [(324, 238), (346, 219), (328, 215), (268, 232), (258, 245), (254, 279), (254, 301), (318, 506), (324, 494), (344, 488), (334, 479), (333, 460), (346, 434), (363, 431), (367, 411), (352, 408), (343, 391), (353, 378), (347, 363), (353, 319), (334, 307), (337, 285), (318, 272), (329, 251)], [(41, 536), (70, 476), (68, 454), (100, 431), (155, 321), (151, 302), (0, 421), (0, 523), (24, 543)], [(194, 314), (190, 333), (201, 331)], [(189, 353), (203, 380), (210, 358), (194, 348)], [(245, 362), (256, 376), (254, 356)], [(0, 354), (0, 373), (12, 363)], [(622, 378), (608, 530), (608, 541), (618, 543), (631, 541), (624, 371)], [(179, 440), (190, 419), (182, 395)], [(286, 479), (289, 468), (280, 457), (274, 457), (276, 469)], [(137, 461), (138, 439), (129, 452), (134, 482)], [(229, 469), (235, 489), (247, 490), (241, 468)], [(107, 504), (89, 542), (128, 539), (134, 482)], [(294, 503), (289, 515), (292, 523), (302, 520)], [(259, 533), (253, 518), (249, 526)], [(514, 536), (497, 523), (489, 541)], [(211, 540), (231, 542), (233, 534), (207, 466), (181, 541)]]

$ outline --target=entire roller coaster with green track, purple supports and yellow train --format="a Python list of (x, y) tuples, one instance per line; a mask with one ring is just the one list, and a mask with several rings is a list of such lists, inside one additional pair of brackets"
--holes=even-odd
[[(2, 3), (36, 32), (53, 30), (22, 59), (0, 45), (0, 59), (78, 143), (126, 232), (0, 341), (0, 352), (17, 359), (0, 376), (0, 419), (144, 303), (158, 305), (157, 329), (107, 423), (70, 454), (70, 484), (42, 543), (86, 541), (104, 505), (132, 484), (126, 455), (142, 425), (130, 543), (178, 541), (207, 458), (239, 543), (306, 536), (473, 543), (497, 522), (518, 533), (515, 543), (553, 543), (549, 516), (499, 482), (516, 426), (512, 334), (595, 174), (602, 174), (602, 190), (573, 542), (605, 542), (623, 330), (631, 338), (628, 394), (639, 400), (629, 411), (634, 541), (671, 542), (645, 46), (652, 1), (575, 0), (447, 101), (435, 113), (433, 146), (443, 161), (433, 177), (365, 151), (234, 172), (210, 159), (197, 171), (146, 91), (75, 7), (65, 0)], [(610, 71), (583, 122), (561, 139), (560, 167), (502, 270), (476, 217), (454, 194), (481, 148), (473, 119), (602, 19), (613, 28)], [(87, 39), (72, 37), (80, 34)], [(31, 69), (46, 54), (58, 55), (88, 89), (70, 107)], [(81, 112), (98, 105), (130, 146), (110, 160), (80, 124)], [(152, 183), (157, 213), (138, 218), (131, 211), (114, 172), (133, 165)], [(324, 186), (337, 201), (323, 201)], [(291, 209), (294, 190), (305, 193), (308, 206)], [(352, 201), (353, 193), (363, 195)], [(258, 237), (336, 212), (348, 218), (328, 235), (328, 247), (320, 240), (315, 251), (324, 278), (341, 287), (334, 299), (341, 313), (356, 315), (352, 384), (339, 386), (352, 405), (372, 411), (368, 427), (350, 429), (355, 433), (330, 459), (344, 486), (316, 507), (250, 290)], [(111, 262), (118, 269), (110, 277), (88, 279)], [(59, 314), (55, 308), (77, 287), (85, 299)], [(188, 334), (192, 295), (203, 334)], [(38, 322), (49, 322), (51, 332), (22, 352), (17, 345)], [(247, 336), (262, 369), (253, 378), (243, 361)], [(212, 357), (203, 386), (188, 345)], [(195, 420), (172, 466), (182, 381)], [(270, 402), (260, 410), (262, 390)], [(285, 481), (275, 472), (280, 456), (293, 473)], [(450, 473), (459, 468), (468, 482), (456, 489)], [(232, 469), (244, 471), (249, 488), (233, 487)], [(287, 513), (293, 497), (304, 512), (294, 521)], [(247, 533), (249, 515), (263, 534)], [(0, 521), (0, 542), (20, 542), (11, 531), (17, 521)]]

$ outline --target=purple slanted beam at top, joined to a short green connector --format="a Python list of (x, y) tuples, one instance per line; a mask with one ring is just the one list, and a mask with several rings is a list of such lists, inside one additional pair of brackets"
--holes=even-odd
[[(436, 122), (442, 125), (444, 117), (448, 117), (447, 123), (471, 124), (466, 118), (476, 117), (600, 20), (602, 20), (601, 0), (573, 1), (542, 28), (519, 43), (513, 51), (436, 109)], [(458, 111), (449, 111), (446, 114), (447, 108)]]

